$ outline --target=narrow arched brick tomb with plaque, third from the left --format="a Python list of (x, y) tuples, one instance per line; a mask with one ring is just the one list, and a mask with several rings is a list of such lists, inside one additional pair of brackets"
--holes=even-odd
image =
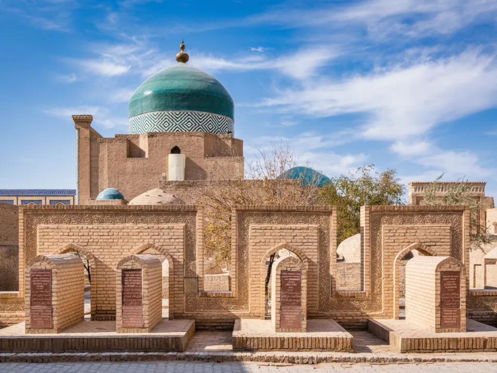
[[(307, 262), (307, 260), (306, 260)], [(307, 267), (297, 257), (280, 258), (271, 269), (271, 322), (275, 332), (307, 331)]]

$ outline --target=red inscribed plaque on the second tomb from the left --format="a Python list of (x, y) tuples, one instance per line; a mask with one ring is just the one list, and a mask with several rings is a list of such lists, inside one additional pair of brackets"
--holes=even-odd
[(122, 327), (143, 328), (142, 270), (122, 270)]

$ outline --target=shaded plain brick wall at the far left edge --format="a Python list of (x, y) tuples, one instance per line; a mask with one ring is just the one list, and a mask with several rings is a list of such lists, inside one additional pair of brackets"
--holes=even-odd
[(19, 207), (0, 203), (0, 291), (19, 289)]

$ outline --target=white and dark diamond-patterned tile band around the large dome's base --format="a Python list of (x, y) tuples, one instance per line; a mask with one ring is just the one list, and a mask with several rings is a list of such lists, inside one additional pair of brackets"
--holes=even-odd
[(129, 133), (209, 132), (233, 133), (230, 117), (203, 111), (152, 111), (129, 119)]

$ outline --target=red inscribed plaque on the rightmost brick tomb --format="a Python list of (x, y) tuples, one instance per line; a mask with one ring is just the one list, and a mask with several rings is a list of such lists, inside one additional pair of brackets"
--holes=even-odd
[(440, 272), (440, 327), (461, 327), (461, 275), (458, 271)]

